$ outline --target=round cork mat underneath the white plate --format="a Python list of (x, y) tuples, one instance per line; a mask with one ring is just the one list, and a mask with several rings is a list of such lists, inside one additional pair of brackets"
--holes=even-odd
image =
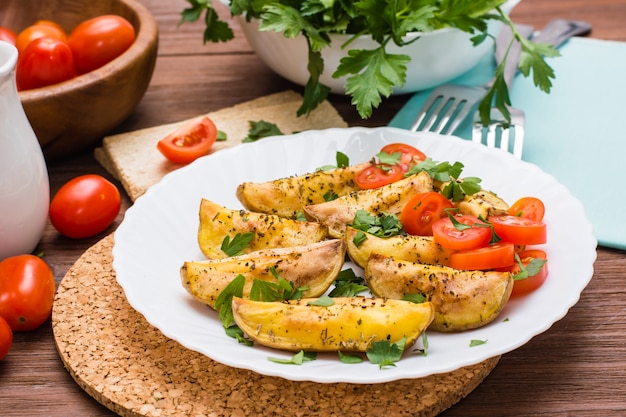
[(433, 416), (489, 375), (500, 357), (454, 372), (381, 384), (290, 381), (231, 368), (168, 339), (126, 301), (113, 237), (59, 284), (52, 325), (74, 380), (122, 416)]

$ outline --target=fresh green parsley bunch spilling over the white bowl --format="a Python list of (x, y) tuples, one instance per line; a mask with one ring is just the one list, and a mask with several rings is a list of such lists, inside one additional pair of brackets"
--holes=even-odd
[[(226, 42), (234, 37), (228, 23), (216, 13), (212, 0), (187, 0), (190, 7), (183, 10), (181, 22), (193, 22), (204, 13), (205, 42)], [(352, 97), (362, 118), (371, 116), (383, 97), (389, 97), (395, 87), (406, 81), (411, 58), (391, 54), (386, 46), (408, 43), (409, 32), (432, 32), (452, 27), (472, 34), (478, 45), (488, 36), (487, 23), (500, 20), (511, 27), (522, 45), (520, 71), (533, 73), (535, 86), (550, 92), (554, 71), (544, 57), (557, 56), (549, 45), (533, 43), (515, 30), (509, 17), (501, 10), (507, 0), (230, 0), (233, 15), (258, 19), (259, 29), (282, 33), (287, 38), (303, 35), (308, 45), (309, 80), (298, 115), (307, 114), (326, 99), (330, 88), (320, 83), (324, 70), (321, 51), (330, 46), (330, 34), (351, 34), (353, 38), (369, 35), (378, 43), (372, 50), (350, 49), (351, 40), (334, 78), (346, 77), (346, 92)], [(353, 39), (351, 38), (351, 39)], [(419, 38), (412, 41), (419, 42)], [(411, 41), (411, 42), (412, 42)], [(504, 60), (506, 61), (506, 59)], [(479, 105), (483, 123), (489, 122), (489, 109), (495, 105), (508, 118), (511, 105), (504, 82), (504, 62), (495, 71), (496, 81)]]

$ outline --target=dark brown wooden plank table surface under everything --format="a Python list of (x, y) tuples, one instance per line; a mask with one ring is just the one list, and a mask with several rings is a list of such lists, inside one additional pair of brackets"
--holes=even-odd
[[(195, 116), (268, 93), (301, 89), (273, 74), (252, 53), (240, 31), (227, 44), (202, 45), (201, 24), (178, 27), (183, 0), (141, 0), (160, 29), (159, 58), (150, 88), (134, 114), (116, 132)], [(222, 9), (223, 10), (223, 9)], [(224, 14), (226, 16), (227, 14)], [(552, 18), (586, 20), (594, 38), (626, 41), (626, 0), (523, 0), (513, 17), (541, 27)], [(408, 96), (385, 100), (374, 116), (360, 120), (349, 101), (331, 102), (351, 125), (382, 126)], [(51, 193), (86, 173), (110, 177), (91, 152), (49, 165)], [(129, 206), (124, 197), (123, 211)], [(100, 236), (69, 240), (51, 226), (38, 251), (57, 282)], [(492, 374), (446, 416), (576, 415), (626, 413), (626, 254), (598, 248), (595, 274), (569, 314), (522, 348), (503, 355)], [(70, 377), (57, 354), (48, 321), (16, 333), (0, 362), (2, 416), (112, 416)]]

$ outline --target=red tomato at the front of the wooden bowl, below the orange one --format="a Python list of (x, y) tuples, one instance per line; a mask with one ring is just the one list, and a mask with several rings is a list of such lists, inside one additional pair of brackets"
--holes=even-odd
[(35, 39), (19, 55), (15, 75), (20, 91), (69, 80), (75, 76), (72, 51), (58, 39)]

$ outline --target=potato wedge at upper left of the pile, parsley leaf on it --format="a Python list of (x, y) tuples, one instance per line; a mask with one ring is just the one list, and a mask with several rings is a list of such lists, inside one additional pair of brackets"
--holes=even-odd
[(328, 229), (321, 223), (301, 222), (283, 217), (232, 210), (212, 201), (200, 203), (198, 244), (208, 259), (228, 257), (221, 250), (225, 236), (234, 238), (237, 233), (253, 232), (254, 238), (243, 253), (263, 249), (301, 246), (326, 239)]

